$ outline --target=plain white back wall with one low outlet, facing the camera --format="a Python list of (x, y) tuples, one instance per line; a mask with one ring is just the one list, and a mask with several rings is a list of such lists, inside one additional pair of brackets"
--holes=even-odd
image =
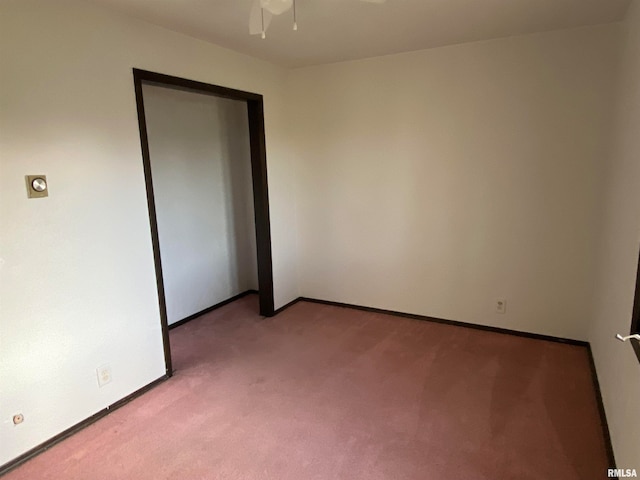
[(301, 293), (585, 340), (617, 28), (295, 70)]

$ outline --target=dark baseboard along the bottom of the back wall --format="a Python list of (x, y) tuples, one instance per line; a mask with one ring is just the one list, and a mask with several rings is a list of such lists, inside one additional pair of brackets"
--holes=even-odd
[(394, 310), (385, 310), (382, 308), (364, 307), (362, 305), (353, 305), (350, 303), (340, 303), (340, 302), (332, 302), (329, 300), (319, 300), (317, 298), (300, 297), (294, 300), (294, 302), (292, 303), (296, 303), (298, 301), (319, 303), (322, 305), (332, 305), (334, 307), (341, 307), (341, 308), (352, 308), (354, 310), (362, 310), (365, 312), (382, 313), (385, 315), (393, 315), (396, 317), (412, 318), (414, 320), (423, 320), (423, 321), (434, 322), (434, 323), (443, 323), (445, 325), (454, 325), (456, 327), (473, 328), (475, 330), (485, 330), (485, 331), (494, 332), (494, 333), (517, 335), (519, 337), (535, 338), (537, 340), (546, 340), (549, 342), (566, 343), (569, 345), (579, 345), (581, 347), (587, 347), (589, 345), (588, 342), (584, 342), (582, 340), (573, 340), (571, 338), (554, 337), (551, 335), (542, 335), (539, 333), (531, 333), (531, 332), (521, 332), (519, 330), (511, 330), (508, 328), (491, 327), (489, 325), (479, 325), (477, 323), (460, 322), (457, 320), (446, 320), (444, 318), (429, 317), (426, 315), (417, 315), (414, 313), (396, 312)]

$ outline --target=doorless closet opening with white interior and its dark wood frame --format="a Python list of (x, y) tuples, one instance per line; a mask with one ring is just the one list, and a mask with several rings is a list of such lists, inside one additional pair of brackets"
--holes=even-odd
[(246, 293), (274, 314), (262, 95), (133, 69), (166, 373), (169, 327)]

